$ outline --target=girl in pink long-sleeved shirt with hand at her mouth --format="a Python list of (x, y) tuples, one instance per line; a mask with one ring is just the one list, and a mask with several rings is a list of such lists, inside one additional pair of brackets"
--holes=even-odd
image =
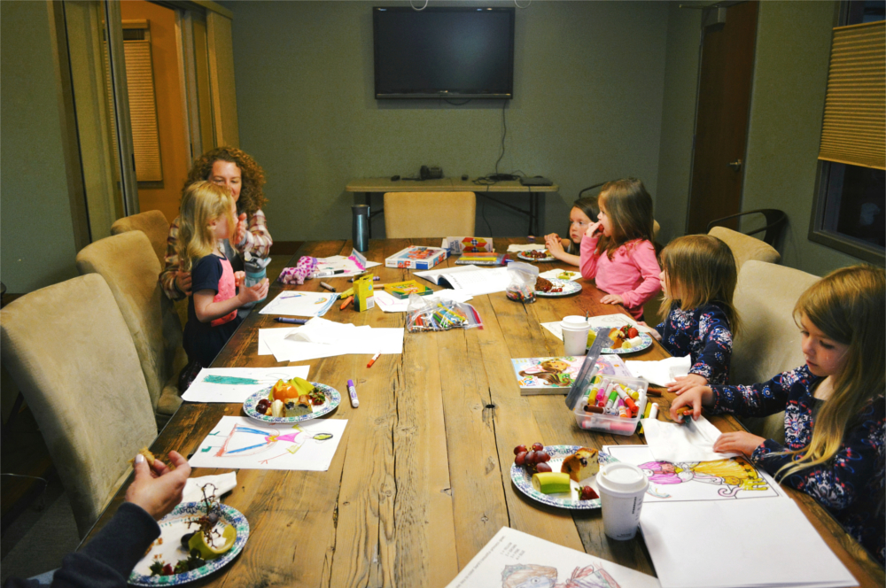
[(625, 306), (641, 319), (643, 305), (661, 291), (652, 245), (652, 197), (643, 182), (627, 178), (604, 185), (598, 204), (598, 222), (581, 240), (581, 275), (595, 278), (597, 288), (609, 292), (600, 302)]

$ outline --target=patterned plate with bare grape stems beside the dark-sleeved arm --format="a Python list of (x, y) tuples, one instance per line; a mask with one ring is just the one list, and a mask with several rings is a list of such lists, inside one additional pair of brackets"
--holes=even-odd
[[(177, 586), (209, 576), (237, 557), (249, 538), (249, 522), (236, 508), (217, 501), (212, 504), (212, 516), (206, 515), (206, 501), (183, 502), (164, 516), (159, 521), (159, 538), (136, 563), (129, 584)], [(201, 526), (200, 520), (204, 517)], [(212, 537), (212, 545), (206, 541), (203, 529)], [(194, 535), (203, 537), (192, 542)], [(185, 540), (189, 545), (185, 546)]]

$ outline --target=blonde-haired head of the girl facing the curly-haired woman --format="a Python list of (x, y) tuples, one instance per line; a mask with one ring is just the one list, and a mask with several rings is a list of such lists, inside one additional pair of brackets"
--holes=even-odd
[(217, 220), (228, 222), (233, 229), (237, 224), (234, 214), (234, 197), (230, 190), (213, 182), (193, 182), (182, 194), (179, 212), (178, 243), (175, 251), (182, 260), (183, 271), (190, 272), (195, 261), (215, 251), (218, 241), (209, 223)]

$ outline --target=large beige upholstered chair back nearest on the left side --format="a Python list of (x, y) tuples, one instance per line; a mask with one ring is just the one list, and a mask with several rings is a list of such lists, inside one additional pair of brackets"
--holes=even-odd
[(157, 437), (126, 322), (105, 279), (83, 275), (4, 306), (0, 343), (82, 537)]

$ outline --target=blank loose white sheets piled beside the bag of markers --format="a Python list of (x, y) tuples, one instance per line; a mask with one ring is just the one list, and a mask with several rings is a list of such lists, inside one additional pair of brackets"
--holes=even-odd
[(403, 329), (355, 327), (314, 318), (294, 329), (259, 329), (259, 355), (277, 361), (307, 361), (347, 354), (403, 352)]

